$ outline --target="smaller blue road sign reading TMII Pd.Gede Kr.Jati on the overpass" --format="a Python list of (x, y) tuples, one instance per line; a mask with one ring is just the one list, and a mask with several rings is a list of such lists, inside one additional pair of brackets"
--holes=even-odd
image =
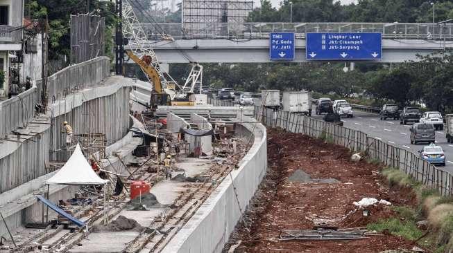
[(270, 59), (294, 59), (294, 33), (271, 32), (269, 37)]

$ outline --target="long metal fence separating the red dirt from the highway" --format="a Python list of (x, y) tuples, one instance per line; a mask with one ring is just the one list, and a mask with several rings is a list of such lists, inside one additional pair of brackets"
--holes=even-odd
[(386, 166), (398, 168), (414, 180), (433, 187), (439, 194), (444, 196), (453, 194), (453, 176), (450, 173), (430, 165), (415, 153), (369, 137), (364, 132), (316, 120), (302, 114), (274, 111), (261, 106), (255, 106), (254, 116), (268, 127), (280, 127), (293, 133), (325, 138), (325, 140), (351, 151), (363, 151), (369, 159), (379, 160)]

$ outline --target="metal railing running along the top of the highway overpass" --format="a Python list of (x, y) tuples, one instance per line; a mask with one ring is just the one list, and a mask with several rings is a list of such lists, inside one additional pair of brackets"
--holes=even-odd
[[(142, 24), (148, 39), (162, 39), (162, 31), (175, 39), (266, 39), (270, 32), (380, 32), (386, 39), (453, 39), (453, 24), (432, 23), (180, 23)], [(190, 28), (188, 28), (190, 26)], [(194, 29), (196, 27), (196, 29)]]

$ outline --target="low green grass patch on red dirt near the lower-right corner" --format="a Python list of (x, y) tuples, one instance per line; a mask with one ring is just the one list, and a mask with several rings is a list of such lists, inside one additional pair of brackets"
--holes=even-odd
[(395, 236), (402, 236), (410, 241), (415, 241), (422, 236), (422, 231), (417, 228), (414, 221), (401, 221), (400, 218), (388, 218), (377, 223), (370, 223), (367, 225), (370, 231), (376, 230), (382, 232), (385, 229)]

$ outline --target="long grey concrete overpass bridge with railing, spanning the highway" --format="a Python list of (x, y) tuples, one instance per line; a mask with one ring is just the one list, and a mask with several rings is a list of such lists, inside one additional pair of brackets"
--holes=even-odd
[[(402, 23), (244, 23), (204, 24), (210, 32), (187, 33), (182, 24), (141, 24), (147, 45), (162, 63), (275, 62), (269, 59), (271, 32), (294, 32), (296, 57), (284, 62), (309, 62), (305, 58), (307, 32), (380, 32), (382, 59), (360, 62), (405, 62), (416, 55), (453, 47), (453, 24)], [(203, 26), (199, 26), (203, 27)], [(212, 32), (212, 31), (215, 32)], [(163, 39), (171, 35), (174, 41)], [(133, 47), (130, 41), (127, 48)], [(332, 62), (332, 61), (330, 61)], [(355, 60), (357, 62), (357, 60)]]

